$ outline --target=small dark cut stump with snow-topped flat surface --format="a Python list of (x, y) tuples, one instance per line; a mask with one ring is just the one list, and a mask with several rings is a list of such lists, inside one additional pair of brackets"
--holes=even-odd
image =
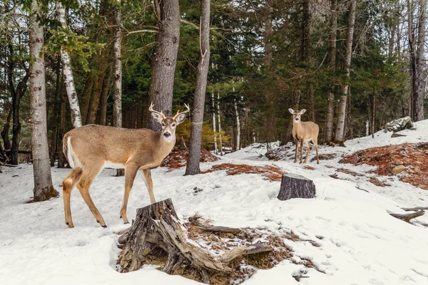
[(282, 175), (278, 199), (284, 201), (292, 198), (314, 198), (315, 184), (301, 175)]

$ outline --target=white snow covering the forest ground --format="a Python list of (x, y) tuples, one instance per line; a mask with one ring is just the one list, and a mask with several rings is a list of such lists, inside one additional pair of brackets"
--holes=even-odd
[[(428, 120), (405, 130), (406, 137), (390, 138), (379, 132), (375, 138), (348, 141), (347, 147), (320, 147), (320, 153), (335, 153), (334, 160), (320, 165), (292, 163), (292, 158), (266, 161), (263, 146), (253, 145), (226, 155), (211, 165), (230, 162), (248, 165), (276, 165), (285, 172), (314, 180), (315, 199), (278, 200), (280, 182), (263, 180), (261, 175), (227, 176), (224, 171), (192, 177), (185, 169), (153, 171), (157, 200), (171, 198), (179, 217), (198, 212), (213, 224), (255, 227), (272, 232), (292, 231), (303, 241), (287, 241), (295, 260), (310, 259), (317, 267), (306, 269), (291, 261), (270, 270), (259, 270), (244, 284), (428, 284), (428, 229), (407, 224), (388, 212), (404, 213), (400, 207), (428, 206), (428, 191), (397, 177), (377, 177), (390, 187), (368, 182), (373, 174), (367, 165), (343, 165), (342, 155), (355, 150), (403, 142), (428, 141)], [(312, 153), (311, 157), (313, 157)], [(364, 176), (342, 172), (346, 168)], [(0, 284), (196, 284), (180, 276), (169, 276), (152, 266), (128, 274), (115, 271), (119, 249), (117, 232), (129, 225), (119, 219), (123, 177), (103, 170), (91, 187), (91, 196), (108, 227), (103, 229), (83, 202), (78, 190), (71, 195), (74, 228), (64, 223), (61, 182), (70, 170), (53, 168), (54, 187), (59, 199), (24, 204), (32, 196), (31, 165), (4, 167), (0, 174)], [(330, 177), (336, 173), (343, 180)], [(198, 187), (202, 191), (195, 192)], [(128, 218), (138, 207), (149, 204), (143, 179), (137, 177), (128, 203)], [(428, 222), (427, 217), (418, 218)], [(316, 246), (315, 246), (315, 245)], [(292, 276), (305, 273), (297, 282)]]

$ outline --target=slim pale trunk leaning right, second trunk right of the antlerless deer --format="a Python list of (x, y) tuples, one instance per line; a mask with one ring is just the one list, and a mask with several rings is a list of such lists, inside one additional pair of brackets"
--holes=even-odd
[(351, 59), (352, 59), (352, 42), (354, 38), (354, 26), (355, 26), (355, 10), (357, 7), (357, 0), (351, 1), (350, 7), (350, 19), (348, 21), (347, 36), (346, 36), (346, 47), (345, 47), (345, 74), (346, 81), (341, 88), (341, 95), (339, 100), (339, 110), (337, 112), (337, 126), (335, 133), (335, 142), (343, 143), (344, 138), (344, 128), (346, 120), (346, 103), (347, 103), (347, 93), (349, 88), (350, 81), (350, 68), (351, 68)]

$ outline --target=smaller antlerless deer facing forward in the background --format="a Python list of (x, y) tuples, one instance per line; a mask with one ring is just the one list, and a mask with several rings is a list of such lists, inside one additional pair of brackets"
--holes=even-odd
[(315, 150), (317, 151), (317, 163), (320, 163), (320, 159), (318, 158), (318, 132), (320, 128), (314, 122), (302, 122), (300, 120), (300, 116), (306, 112), (306, 109), (301, 111), (288, 109), (292, 114), (292, 138), (294, 138), (296, 145), (295, 152), (295, 162), (297, 162), (297, 148), (299, 147), (300, 142), (300, 163), (302, 163), (303, 159), (303, 143), (307, 142), (307, 154), (305, 157), (305, 162), (307, 162), (307, 157), (309, 156), (309, 152), (311, 149), (310, 142), (315, 145)]

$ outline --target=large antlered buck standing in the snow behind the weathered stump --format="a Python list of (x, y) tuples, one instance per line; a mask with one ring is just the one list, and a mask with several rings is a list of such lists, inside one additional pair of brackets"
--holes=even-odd
[(73, 167), (71, 173), (63, 181), (64, 212), (66, 224), (73, 227), (70, 209), (70, 195), (73, 186), (81, 193), (96, 221), (101, 227), (107, 227), (98, 209), (89, 195), (91, 183), (104, 167), (125, 167), (125, 195), (121, 209), (123, 222), (128, 223), (126, 207), (133, 181), (138, 170), (143, 173), (151, 203), (156, 202), (153, 195), (151, 169), (161, 165), (162, 160), (175, 145), (175, 127), (185, 119), (187, 110), (173, 117), (166, 117), (162, 111), (149, 111), (158, 123), (162, 124), (160, 132), (148, 129), (113, 128), (103, 125), (85, 125), (66, 133), (63, 138), (63, 152), (68, 163)]

